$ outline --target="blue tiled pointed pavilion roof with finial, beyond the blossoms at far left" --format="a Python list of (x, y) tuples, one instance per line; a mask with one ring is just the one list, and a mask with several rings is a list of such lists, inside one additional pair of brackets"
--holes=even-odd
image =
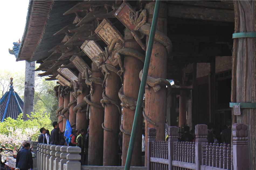
[(11, 117), (17, 119), (20, 113), (23, 113), (23, 100), (18, 93), (13, 89), (13, 78), (11, 78), (11, 86), (8, 92), (2, 96), (0, 100), (0, 121), (3, 122), (5, 118)]

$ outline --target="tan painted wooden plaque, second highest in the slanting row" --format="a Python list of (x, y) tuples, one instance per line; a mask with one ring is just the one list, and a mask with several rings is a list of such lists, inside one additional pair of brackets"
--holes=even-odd
[(101, 24), (94, 31), (101, 39), (109, 45), (110, 42), (118, 38), (124, 43), (123, 35), (116, 29), (116, 27), (107, 19), (103, 19)]

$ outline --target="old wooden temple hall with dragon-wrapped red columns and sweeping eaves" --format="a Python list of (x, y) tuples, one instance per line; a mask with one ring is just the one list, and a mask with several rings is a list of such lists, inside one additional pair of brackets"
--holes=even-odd
[[(17, 61), (36, 61), (38, 76), (58, 80), (59, 127), (69, 120), (90, 128), (88, 165), (118, 165), (119, 130), (125, 165), (154, 8), (141, 0), (29, 3)], [(218, 130), (232, 119), (255, 130), (255, 109), (240, 105), (241, 115), (233, 115), (230, 107), (255, 102), (255, 38), (232, 38), (255, 32), (252, 16), (254, 1), (161, 2), (131, 166), (141, 166), (143, 122), (146, 141), (148, 128), (164, 141), (166, 124), (182, 132), (212, 122)], [(250, 130), (248, 142), (256, 168)]]

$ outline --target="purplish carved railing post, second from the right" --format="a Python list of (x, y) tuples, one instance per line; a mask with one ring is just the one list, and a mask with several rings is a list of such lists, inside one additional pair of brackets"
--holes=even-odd
[(196, 170), (200, 170), (200, 165), (202, 165), (202, 159), (203, 159), (202, 148), (206, 147), (206, 142), (207, 142), (207, 134), (208, 134), (207, 125), (205, 124), (196, 125), (195, 134), (196, 134), (196, 143), (195, 143)]

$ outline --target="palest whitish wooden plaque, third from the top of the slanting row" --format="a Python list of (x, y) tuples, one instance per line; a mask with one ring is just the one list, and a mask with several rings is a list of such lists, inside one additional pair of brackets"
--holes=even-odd
[[(88, 41), (86, 40), (84, 44), (81, 46), (81, 49), (85, 52), (85, 54), (92, 59), (94, 56), (98, 55), (99, 53), (102, 53), (103, 50), (101, 46), (96, 41)], [(92, 60), (93, 61), (93, 60)], [(96, 63), (93, 61), (96, 65), (99, 65), (99, 63)]]

